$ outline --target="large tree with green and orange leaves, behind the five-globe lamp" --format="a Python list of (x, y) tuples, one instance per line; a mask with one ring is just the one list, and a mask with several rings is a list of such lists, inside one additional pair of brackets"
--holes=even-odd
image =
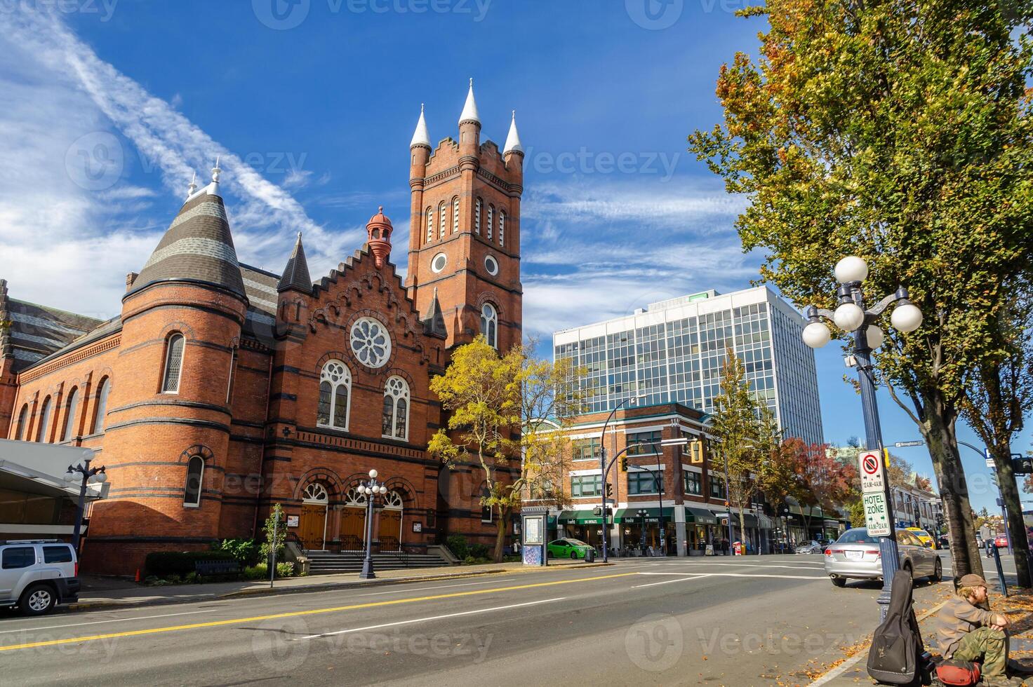
[(956, 575), (980, 572), (956, 423), (966, 375), (992, 357), (1009, 275), (1033, 242), (1028, 1), (770, 0), (754, 61), (721, 68), (724, 121), (690, 150), (749, 200), (737, 222), (764, 280), (835, 306), (831, 262), (866, 289), (906, 285), (924, 315), (891, 327), (877, 381), (917, 425), (946, 506)]

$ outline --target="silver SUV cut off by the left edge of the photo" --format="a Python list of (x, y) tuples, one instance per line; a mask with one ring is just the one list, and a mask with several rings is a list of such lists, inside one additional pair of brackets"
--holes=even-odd
[(79, 560), (58, 539), (0, 542), (0, 606), (30, 616), (79, 600)]

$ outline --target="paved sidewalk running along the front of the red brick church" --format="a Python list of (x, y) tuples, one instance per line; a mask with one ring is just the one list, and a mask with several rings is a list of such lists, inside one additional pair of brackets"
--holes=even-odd
[(219, 598), (233, 598), (255, 594), (289, 594), (298, 592), (330, 591), (348, 587), (373, 587), (401, 584), (405, 582), (430, 582), (453, 580), (506, 572), (536, 572), (557, 567), (598, 567), (613, 563), (585, 563), (582, 561), (551, 561), (547, 567), (524, 565), (523, 563), (490, 563), (487, 565), (456, 565), (452, 567), (419, 567), (377, 572), (375, 580), (359, 580), (357, 572), (344, 575), (319, 575), (304, 578), (277, 580), (270, 588), (269, 580), (242, 580), (236, 582), (212, 582), (200, 585), (168, 585), (148, 587), (136, 583), (111, 578), (84, 578), (79, 602), (69, 606), (71, 611), (86, 611), (106, 608), (132, 608), (162, 603), (186, 603), (210, 601)]

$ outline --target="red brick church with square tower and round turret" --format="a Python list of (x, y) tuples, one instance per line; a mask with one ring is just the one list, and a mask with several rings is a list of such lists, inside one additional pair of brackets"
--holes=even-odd
[(254, 536), (274, 502), (304, 548), (361, 548), (371, 468), (389, 490), (381, 548), (494, 541), (476, 469), (426, 451), (445, 422), (430, 380), (451, 349), (521, 339), (524, 152), (515, 122), (502, 151), (480, 128), (472, 84), (459, 140), (432, 149), (420, 111), (404, 282), (382, 208), (315, 282), (300, 234), (282, 273), (240, 263), (218, 168), (126, 277), (118, 317), (18, 300), (0, 281), (0, 436), (90, 447), (106, 466), (86, 569)]

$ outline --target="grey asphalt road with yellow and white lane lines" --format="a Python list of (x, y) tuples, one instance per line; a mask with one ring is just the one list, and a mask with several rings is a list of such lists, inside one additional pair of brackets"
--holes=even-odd
[[(878, 586), (837, 589), (821, 560), (638, 558), (34, 619), (8, 615), (0, 617), (0, 682), (807, 684), (878, 617)], [(936, 592), (919, 586), (919, 609)]]

